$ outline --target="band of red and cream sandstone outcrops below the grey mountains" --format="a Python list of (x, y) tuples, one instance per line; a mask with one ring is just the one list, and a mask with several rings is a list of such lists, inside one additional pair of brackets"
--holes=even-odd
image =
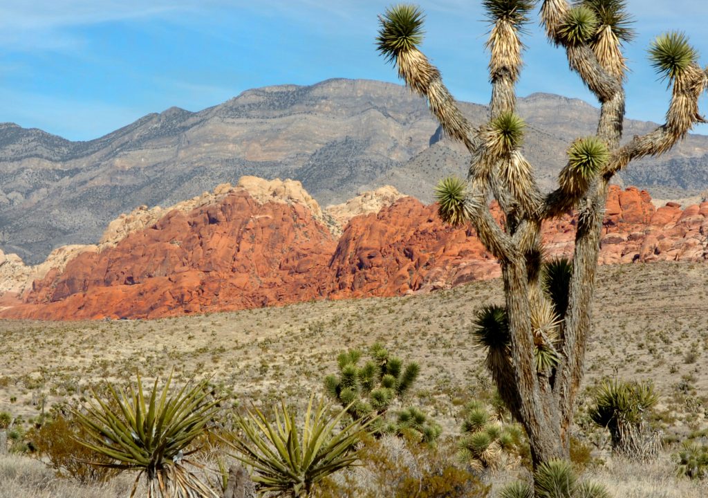
[[(549, 256), (572, 253), (574, 227), (571, 213), (544, 225)], [(657, 209), (646, 191), (613, 186), (604, 232), (601, 264), (706, 261), (708, 202)], [(322, 210), (297, 181), (246, 177), (171, 210), (142, 206), (97, 247), (29, 270), (4, 256), (0, 317), (152, 318), (420, 293), (499, 273), (474, 230), (392, 187)]]

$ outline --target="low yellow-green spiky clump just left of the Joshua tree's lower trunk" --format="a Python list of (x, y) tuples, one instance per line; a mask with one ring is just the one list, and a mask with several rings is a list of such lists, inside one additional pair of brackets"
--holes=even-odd
[(479, 470), (494, 470), (503, 458), (518, 458), (525, 445), (517, 424), (492, 420), (489, 410), (478, 401), (469, 402), (462, 419), (459, 458)]

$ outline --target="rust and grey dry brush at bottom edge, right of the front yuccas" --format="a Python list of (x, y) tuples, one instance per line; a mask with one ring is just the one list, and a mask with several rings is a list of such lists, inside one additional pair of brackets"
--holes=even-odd
[(324, 482), (322, 497), (485, 498), (490, 487), (471, 468), (455, 465), (455, 445), (421, 445), (392, 434), (367, 438), (360, 465)]

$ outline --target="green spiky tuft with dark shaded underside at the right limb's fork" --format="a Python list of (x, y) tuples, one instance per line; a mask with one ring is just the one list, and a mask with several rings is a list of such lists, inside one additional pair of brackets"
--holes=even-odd
[(561, 188), (573, 195), (585, 192), (608, 159), (610, 151), (598, 137), (576, 140), (568, 149), (568, 164), (559, 175)]

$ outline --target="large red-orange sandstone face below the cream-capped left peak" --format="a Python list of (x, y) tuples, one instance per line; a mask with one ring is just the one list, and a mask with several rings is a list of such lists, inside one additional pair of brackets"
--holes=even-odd
[(260, 204), (238, 189), (80, 254), (6, 316), (161, 317), (319, 298), (335, 246), (304, 205)]

